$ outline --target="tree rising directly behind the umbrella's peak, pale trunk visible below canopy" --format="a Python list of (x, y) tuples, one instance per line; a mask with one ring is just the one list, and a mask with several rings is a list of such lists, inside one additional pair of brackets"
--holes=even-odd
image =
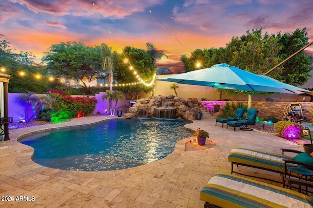
[[(226, 46), (225, 55), (229, 60), (229, 65), (237, 66), (240, 69), (255, 73), (264, 74), (273, 66), (279, 63), (278, 52), (281, 49), (277, 43), (277, 38), (265, 33), (262, 36), (262, 28), (259, 30), (246, 31), (245, 35), (233, 37)], [(250, 91), (219, 90), (226, 94), (242, 93), (248, 95), (248, 108), (252, 105), (252, 96), (268, 93)]]

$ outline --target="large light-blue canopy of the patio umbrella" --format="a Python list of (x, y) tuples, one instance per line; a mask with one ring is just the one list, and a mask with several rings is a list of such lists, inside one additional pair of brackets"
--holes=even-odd
[(311, 91), (285, 84), (268, 76), (256, 75), (225, 63), (216, 64), (206, 69), (158, 78), (156, 80), (230, 90), (289, 94), (306, 93), (313, 95)]

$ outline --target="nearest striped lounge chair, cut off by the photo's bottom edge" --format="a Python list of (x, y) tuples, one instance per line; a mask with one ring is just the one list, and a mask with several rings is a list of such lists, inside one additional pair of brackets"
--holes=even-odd
[[(313, 188), (312, 183), (292, 179), (290, 182)], [(313, 206), (312, 197), (295, 190), (221, 172), (213, 175), (201, 189), (200, 200), (205, 201), (204, 208)]]

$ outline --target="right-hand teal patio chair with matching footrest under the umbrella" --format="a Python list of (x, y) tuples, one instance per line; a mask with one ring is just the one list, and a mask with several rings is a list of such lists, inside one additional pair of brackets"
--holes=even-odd
[(226, 129), (228, 126), (239, 127), (241, 130), (252, 131), (253, 129), (249, 128), (248, 125), (255, 125), (256, 116), (258, 115), (258, 110), (254, 108), (249, 108), (246, 119), (239, 119), (238, 121), (227, 121)]

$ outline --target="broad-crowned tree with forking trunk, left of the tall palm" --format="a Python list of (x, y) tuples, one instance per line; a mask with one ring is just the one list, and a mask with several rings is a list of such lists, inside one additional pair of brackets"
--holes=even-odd
[(53, 44), (42, 58), (52, 75), (74, 80), (76, 85), (90, 92), (90, 82), (101, 73), (99, 47), (88, 47), (82, 42)]

